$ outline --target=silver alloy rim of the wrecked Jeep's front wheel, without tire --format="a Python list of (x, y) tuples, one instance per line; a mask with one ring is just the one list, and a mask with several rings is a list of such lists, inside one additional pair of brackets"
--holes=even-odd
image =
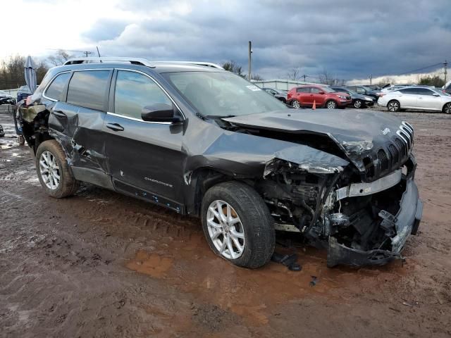
[(237, 259), (245, 251), (245, 229), (235, 209), (225, 201), (211, 202), (206, 212), (211, 242), (221, 256)]

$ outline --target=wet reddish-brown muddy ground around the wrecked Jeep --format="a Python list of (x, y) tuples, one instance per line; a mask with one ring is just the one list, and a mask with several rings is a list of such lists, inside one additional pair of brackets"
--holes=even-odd
[(397, 115), (424, 200), (405, 262), (328, 269), (324, 251), (278, 246), (295, 273), (230, 265), (199, 220), (92, 185), (51, 199), (3, 109), (0, 337), (450, 337), (451, 116)]

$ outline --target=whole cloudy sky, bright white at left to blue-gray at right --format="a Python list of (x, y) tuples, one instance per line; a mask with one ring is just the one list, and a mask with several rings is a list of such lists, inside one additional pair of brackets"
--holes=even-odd
[[(155, 60), (234, 60), (265, 78), (292, 68), (323, 70), (351, 80), (397, 75), (451, 61), (450, 0), (5, 0), (13, 13), (0, 23), (30, 35), (0, 57), (45, 56), (51, 49), (95, 50), (105, 56)], [(25, 10), (27, 8), (27, 10)], [(17, 12), (16, 12), (17, 13)], [(39, 18), (39, 20), (36, 20)], [(80, 53), (74, 52), (73, 54)], [(434, 68), (428, 68), (433, 70)], [(253, 73), (254, 73), (253, 72)]]

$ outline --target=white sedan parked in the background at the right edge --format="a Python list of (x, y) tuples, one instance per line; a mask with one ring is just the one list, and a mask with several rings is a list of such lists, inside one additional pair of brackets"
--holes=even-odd
[(378, 106), (387, 107), (389, 111), (419, 109), (450, 114), (451, 95), (430, 87), (404, 87), (383, 94), (378, 99)]

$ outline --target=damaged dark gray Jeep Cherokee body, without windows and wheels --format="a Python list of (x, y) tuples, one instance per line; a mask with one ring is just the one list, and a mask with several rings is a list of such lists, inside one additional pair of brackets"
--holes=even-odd
[(288, 108), (199, 118), (164, 69), (127, 65), (152, 76), (183, 112), (178, 123), (145, 123), (114, 113), (115, 67), (123, 65), (96, 67), (111, 71), (103, 110), (68, 104), (68, 84), (59, 101), (42, 95), (55, 75), (74, 66), (52, 68), (33, 95), (36, 108), (22, 109), (28, 144), (36, 149), (56, 139), (77, 180), (190, 215), (199, 215), (215, 184), (244, 182), (262, 197), (277, 229), (294, 227), (328, 248), (330, 266), (401, 258), (416, 233), (422, 204), (408, 123), (371, 111)]

